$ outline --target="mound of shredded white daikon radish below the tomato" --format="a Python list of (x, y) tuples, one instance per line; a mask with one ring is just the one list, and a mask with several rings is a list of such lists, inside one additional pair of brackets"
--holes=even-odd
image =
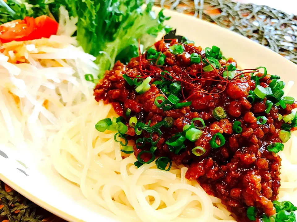
[(71, 106), (92, 95), (94, 84), (84, 75), (97, 76), (95, 57), (75, 46), (70, 37), (75, 30), (69, 29), (75, 27), (73, 19), (63, 22), (61, 33), (68, 36), (0, 47), (0, 121), (6, 129), (6, 140), (1, 141), (17, 147), (26, 142), (44, 146), (51, 133), (71, 120)]

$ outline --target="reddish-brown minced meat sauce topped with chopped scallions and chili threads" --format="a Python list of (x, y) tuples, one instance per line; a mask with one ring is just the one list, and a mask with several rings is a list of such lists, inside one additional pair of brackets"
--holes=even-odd
[(118, 131), (114, 139), (124, 153), (134, 152), (137, 167), (156, 158), (162, 170), (171, 161), (188, 165), (186, 178), (220, 198), (238, 221), (296, 221), (297, 208), (277, 201), (277, 153), (297, 125), (297, 102), (284, 96), (284, 86), (265, 67), (240, 70), (216, 46), (161, 40), (105, 72), (94, 96), (120, 117), (96, 129)]

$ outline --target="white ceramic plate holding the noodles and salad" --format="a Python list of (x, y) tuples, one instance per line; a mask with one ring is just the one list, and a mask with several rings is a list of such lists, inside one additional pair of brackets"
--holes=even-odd
[[(156, 9), (159, 10), (159, 9)], [(297, 82), (297, 65), (241, 35), (191, 16), (165, 10), (168, 25), (203, 48), (216, 45), (225, 57), (232, 56), (242, 68), (265, 66), (286, 83)], [(297, 95), (297, 88), (290, 92)], [(80, 188), (55, 171), (49, 156), (30, 150), (14, 150), (0, 144), (0, 179), (46, 210), (68, 221), (117, 221), (112, 213), (87, 201)]]

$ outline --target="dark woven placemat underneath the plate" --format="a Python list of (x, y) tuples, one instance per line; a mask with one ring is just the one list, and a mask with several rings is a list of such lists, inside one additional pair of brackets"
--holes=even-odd
[[(238, 32), (297, 64), (297, 16), (267, 6), (229, 0), (161, 0), (156, 1), (156, 5), (191, 14)], [(63, 221), (1, 181), (0, 199), (1, 222)]]

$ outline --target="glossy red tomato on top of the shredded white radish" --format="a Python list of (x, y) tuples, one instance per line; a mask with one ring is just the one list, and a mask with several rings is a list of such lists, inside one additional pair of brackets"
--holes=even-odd
[(0, 41), (7, 43), (11, 41), (26, 41), (49, 38), (57, 34), (58, 23), (46, 15), (36, 19), (25, 17), (24, 20), (15, 20), (0, 25)]

